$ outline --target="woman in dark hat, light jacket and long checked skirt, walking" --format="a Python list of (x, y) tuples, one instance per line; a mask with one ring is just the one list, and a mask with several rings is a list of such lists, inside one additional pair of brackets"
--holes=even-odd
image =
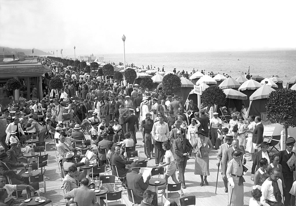
[[(204, 131), (200, 130), (196, 134), (198, 137), (195, 138), (193, 143), (193, 152), (195, 153), (194, 174), (200, 175), (200, 186), (203, 186), (204, 181), (206, 185), (209, 185), (207, 182), (207, 176), (210, 175), (209, 153), (213, 149), (213, 145), (210, 139), (205, 136)], [(203, 176), (205, 176), (205, 179), (203, 179)]]

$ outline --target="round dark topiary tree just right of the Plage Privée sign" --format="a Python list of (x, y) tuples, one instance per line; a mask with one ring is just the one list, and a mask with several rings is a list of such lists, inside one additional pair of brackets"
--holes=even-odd
[(214, 107), (215, 104), (223, 105), (226, 102), (226, 95), (218, 86), (210, 86), (202, 92), (200, 100), (204, 107)]

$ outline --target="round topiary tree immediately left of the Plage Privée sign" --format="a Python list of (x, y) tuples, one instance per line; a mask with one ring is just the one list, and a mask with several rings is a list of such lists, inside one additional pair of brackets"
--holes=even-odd
[(181, 91), (181, 79), (176, 74), (167, 74), (163, 77), (163, 92), (172, 95)]

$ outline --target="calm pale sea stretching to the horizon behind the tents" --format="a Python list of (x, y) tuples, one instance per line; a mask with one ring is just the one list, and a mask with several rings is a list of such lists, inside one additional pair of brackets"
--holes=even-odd
[[(104, 62), (123, 62), (121, 54), (94, 54), (104, 57)], [(228, 74), (232, 78), (244, 75), (250, 67), (250, 75), (262, 77), (279, 76), (286, 85), (296, 75), (296, 50), (279, 51), (217, 51), (217, 52), (178, 52), (178, 53), (126, 53), (126, 64), (146, 69), (147, 66), (160, 71), (184, 70), (189, 74), (195, 71)]]

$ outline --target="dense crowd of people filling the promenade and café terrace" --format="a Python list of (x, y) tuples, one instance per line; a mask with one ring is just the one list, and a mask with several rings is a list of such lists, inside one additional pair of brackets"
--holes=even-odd
[[(225, 126), (218, 113), (214, 112), (209, 119), (207, 109), (199, 111), (192, 99), (184, 106), (178, 95), (166, 95), (161, 87), (152, 92), (139, 85), (103, 82), (97, 73), (91, 76), (83, 69), (64, 67), (47, 58), (42, 58), (41, 62), (52, 69), (42, 80), (43, 98), (28, 101), (21, 96), (19, 109), (9, 104), (8, 108), (2, 109), (3, 115), (0, 112), (0, 137), (4, 150), (0, 153), (0, 180), (7, 176), (13, 180), (13, 185), (7, 188), (32, 189), (23, 186), (28, 182), (13, 168), (28, 167), (22, 156), (30, 151), (25, 144), (25, 132), (37, 132), (39, 142), (48, 136), (58, 139), (56, 147), (60, 162), (67, 171), (62, 183), (66, 192), (64, 198), (74, 198), (78, 205), (97, 205), (94, 192), (88, 189), (90, 182), (86, 172), (79, 170), (84, 164), (80, 160), (85, 155), (74, 146), (84, 143), (84, 134), (89, 133), (91, 144), (107, 151), (98, 154), (99, 166), (107, 163), (116, 166), (117, 173), (114, 170), (112, 173), (122, 177), (122, 186), (132, 189), (137, 203), (157, 205), (157, 194), (147, 190), (150, 176), (144, 182), (139, 174), (139, 163), (126, 160), (124, 153), (125, 147), (137, 145), (136, 132), (141, 129), (147, 160), (154, 159), (157, 169), (165, 168), (166, 183), (171, 177), (173, 182), (181, 182), (181, 187), (186, 189), (184, 174), (187, 160), (192, 156), (195, 159), (194, 174), (200, 176), (200, 186), (207, 186), (209, 154), (211, 150), (218, 150), (217, 166), (222, 168), (229, 205), (241, 206), (244, 200), (243, 175), (247, 171), (245, 157), (249, 153), (248, 161), (253, 161), (251, 179), (254, 181), (250, 205), (281, 205), (283, 197), (284, 205), (295, 204), (290, 203), (296, 194), (296, 184), (293, 184), (295, 165), (287, 164), (292, 155), (295, 157), (292, 152), (295, 140), (289, 138), (285, 142), (286, 150), (278, 155), (269, 153), (269, 144), (263, 141), (261, 117), (245, 116), (244, 106), (240, 112), (221, 108), (223, 114), (228, 113), (231, 118)], [(181, 72), (181, 75), (186, 76), (186, 73)], [(60, 90), (49, 89), (49, 80), (53, 77), (62, 80)], [(16, 110), (19, 115), (4, 128), (4, 114)], [(69, 120), (66, 123), (65, 117)], [(66, 131), (62, 129), (65, 127)], [(1, 184), (5, 185), (4, 180)], [(8, 198), (13, 199), (15, 194), (6, 190)]]

